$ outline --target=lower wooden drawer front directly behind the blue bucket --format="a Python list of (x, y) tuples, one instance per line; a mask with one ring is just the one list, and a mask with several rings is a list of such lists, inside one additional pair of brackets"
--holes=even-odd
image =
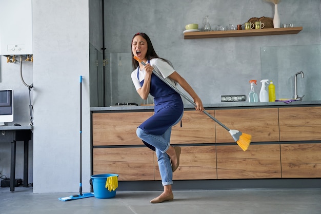
[(93, 174), (119, 174), (119, 181), (153, 181), (154, 152), (143, 148), (94, 148)]

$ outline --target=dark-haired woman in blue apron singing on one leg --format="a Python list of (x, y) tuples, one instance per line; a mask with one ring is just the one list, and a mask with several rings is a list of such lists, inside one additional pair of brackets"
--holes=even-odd
[(174, 199), (172, 192), (173, 172), (178, 168), (180, 147), (170, 145), (171, 127), (183, 116), (184, 105), (179, 93), (160, 80), (153, 69), (172, 85), (178, 83), (193, 98), (197, 111), (204, 110), (202, 101), (192, 87), (172, 67), (171, 63), (158, 57), (150, 38), (145, 33), (136, 33), (132, 38), (132, 56), (146, 63), (146, 66), (132, 60), (134, 71), (131, 74), (134, 86), (142, 99), (148, 94), (154, 96), (154, 115), (138, 126), (136, 133), (144, 144), (157, 155), (158, 168), (164, 192), (151, 203), (161, 203)]

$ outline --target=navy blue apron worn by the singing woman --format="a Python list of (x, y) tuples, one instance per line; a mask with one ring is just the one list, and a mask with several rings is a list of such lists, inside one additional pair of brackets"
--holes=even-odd
[[(148, 60), (148, 63), (149, 60)], [(137, 68), (137, 79), (139, 80), (139, 66)], [(144, 80), (140, 82), (143, 87)], [(184, 104), (179, 93), (160, 80), (152, 73), (149, 93), (154, 96), (154, 114), (138, 127), (144, 131), (162, 135), (172, 127), (184, 111)], [(144, 141), (143, 141), (144, 142)], [(155, 151), (148, 143), (144, 144)]]

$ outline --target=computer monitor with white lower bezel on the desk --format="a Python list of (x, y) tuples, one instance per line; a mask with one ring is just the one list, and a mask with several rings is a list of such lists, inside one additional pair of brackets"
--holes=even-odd
[(13, 122), (13, 90), (0, 90), (0, 126)]

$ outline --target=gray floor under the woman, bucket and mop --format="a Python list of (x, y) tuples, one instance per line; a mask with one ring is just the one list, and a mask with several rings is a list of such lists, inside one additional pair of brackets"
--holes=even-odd
[(320, 214), (321, 189), (236, 189), (174, 191), (174, 201), (151, 204), (160, 191), (117, 191), (112, 199), (59, 201), (72, 193), (33, 193), (0, 188), (0, 213), (117, 213), (117, 214)]

